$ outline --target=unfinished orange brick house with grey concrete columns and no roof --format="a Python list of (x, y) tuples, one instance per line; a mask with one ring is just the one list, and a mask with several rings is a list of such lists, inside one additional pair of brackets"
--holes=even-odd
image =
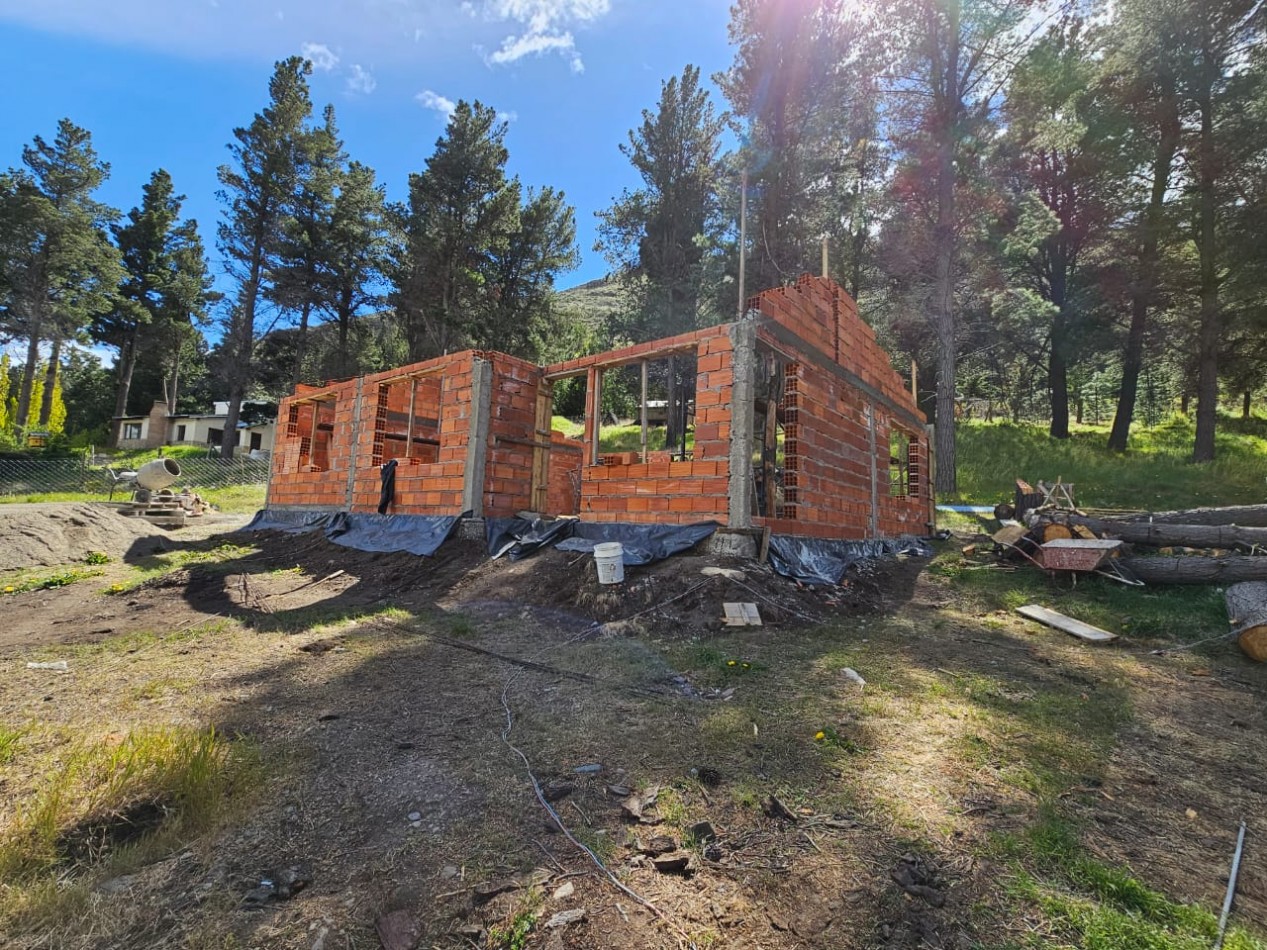
[[(693, 375), (693, 426), (650, 451), (647, 370), (669, 358)], [(628, 367), (641, 448), (604, 455), (604, 376)], [(550, 426), (555, 385), (573, 376), (585, 377), (582, 440)], [(374, 512), (393, 459), (395, 514), (716, 521), (843, 540), (933, 522), (925, 419), (856, 304), (822, 277), (751, 298), (734, 323), (555, 366), (468, 351), (300, 386), (280, 407), (267, 504)]]

